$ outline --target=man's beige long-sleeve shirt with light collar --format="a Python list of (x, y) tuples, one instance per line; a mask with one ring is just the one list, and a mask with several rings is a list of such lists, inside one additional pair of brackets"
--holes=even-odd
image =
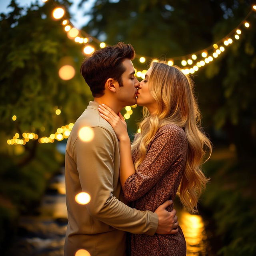
[[(93, 139), (78, 136), (90, 127)], [(119, 142), (112, 126), (98, 112), (98, 103), (89, 106), (78, 118), (68, 138), (65, 156), (68, 227), (65, 256), (85, 249), (91, 256), (125, 255), (125, 231), (154, 235), (158, 217), (126, 205), (119, 181)], [(82, 205), (76, 194), (86, 192), (91, 200)]]

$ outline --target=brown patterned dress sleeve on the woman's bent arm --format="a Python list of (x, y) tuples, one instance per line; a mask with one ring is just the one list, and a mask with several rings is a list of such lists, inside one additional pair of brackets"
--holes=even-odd
[(186, 135), (172, 126), (156, 134), (145, 159), (124, 183), (124, 197), (134, 201), (146, 194), (182, 154)]

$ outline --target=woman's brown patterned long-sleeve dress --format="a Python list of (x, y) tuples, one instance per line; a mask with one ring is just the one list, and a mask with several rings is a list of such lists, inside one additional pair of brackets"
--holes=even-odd
[[(124, 184), (124, 196), (137, 210), (156, 208), (174, 199), (185, 168), (187, 139), (174, 124), (158, 129), (148, 145), (146, 158)], [(132, 154), (135, 161), (138, 150)], [(172, 210), (172, 205), (167, 208)], [(131, 234), (132, 256), (185, 256), (186, 242), (179, 226), (177, 234), (154, 236)]]

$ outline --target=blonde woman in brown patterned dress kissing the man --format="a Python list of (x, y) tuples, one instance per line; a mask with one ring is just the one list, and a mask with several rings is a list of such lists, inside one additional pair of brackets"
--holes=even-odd
[[(137, 104), (144, 106), (132, 147), (127, 126), (108, 106), (101, 116), (114, 128), (119, 140), (120, 181), (124, 196), (138, 210), (151, 210), (176, 193), (189, 212), (208, 179), (200, 170), (206, 148), (211, 144), (199, 128), (200, 112), (192, 92), (192, 81), (176, 66), (152, 62), (140, 82)], [(172, 206), (170, 209), (172, 210)], [(184, 256), (186, 242), (180, 226), (170, 235), (131, 234), (132, 256)]]

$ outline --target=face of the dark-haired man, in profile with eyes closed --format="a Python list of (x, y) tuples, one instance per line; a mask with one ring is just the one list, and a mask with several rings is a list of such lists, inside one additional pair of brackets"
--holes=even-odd
[(116, 96), (117, 100), (123, 106), (131, 106), (136, 104), (136, 92), (137, 87), (140, 85), (140, 82), (134, 76), (135, 70), (131, 60), (125, 59), (122, 64), (126, 68), (122, 74), (122, 84), (123, 86), (117, 86)]

